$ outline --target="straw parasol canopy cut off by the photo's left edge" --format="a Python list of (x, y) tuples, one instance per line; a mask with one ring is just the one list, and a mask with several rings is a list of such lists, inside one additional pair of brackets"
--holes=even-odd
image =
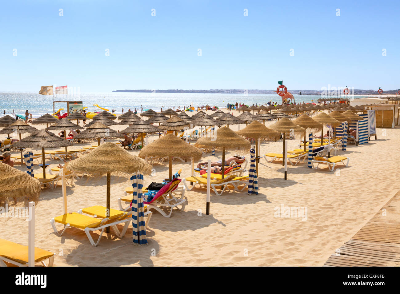
[(0, 206), (27, 206), (29, 201), (37, 202), (40, 194), (40, 182), (5, 163), (0, 163)]

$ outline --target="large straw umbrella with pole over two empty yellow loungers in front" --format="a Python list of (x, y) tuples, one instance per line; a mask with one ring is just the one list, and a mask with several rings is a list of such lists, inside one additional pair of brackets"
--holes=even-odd
[[(106, 217), (110, 216), (111, 173), (130, 176), (138, 171), (143, 174), (151, 172), (151, 165), (142, 158), (110, 142), (101, 144), (92, 152), (72, 160), (66, 168), (73, 172), (87, 172), (96, 176), (107, 175)], [(109, 227), (106, 232), (110, 232)]]

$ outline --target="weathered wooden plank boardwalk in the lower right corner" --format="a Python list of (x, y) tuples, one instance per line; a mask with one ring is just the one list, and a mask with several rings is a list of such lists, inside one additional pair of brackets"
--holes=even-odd
[(400, 191), (324, 266), (400, 266)]

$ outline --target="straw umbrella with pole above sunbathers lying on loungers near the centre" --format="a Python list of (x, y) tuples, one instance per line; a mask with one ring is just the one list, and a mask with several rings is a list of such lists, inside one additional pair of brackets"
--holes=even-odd
[(225, 150), (238, 150), (240, 148), (239, 152), (247, 153), (251, 148), (251, 144), (248, 140), (224, 126), (216, 131), (214, 138), (200, 138), (194, 146), (199, 148), (215, 147), (217, 149), (222, 149), (222, 179), (224, 178), (225, 171)]

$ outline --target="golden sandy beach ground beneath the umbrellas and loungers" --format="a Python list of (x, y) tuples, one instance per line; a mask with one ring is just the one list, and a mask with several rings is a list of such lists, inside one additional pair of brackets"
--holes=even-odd
[[(238, 112), (233, 114), (237, 116)], [(266, 122), (266, 126), (272, 123)], [(125, 126), (111, 128), (123, 130)], [(236, 131), (238, 125), (230, 128)], [(209, 216), (205, 214), (206, 189), (186, 191), (188, 205), (184, 212), (174, 211), (171, 218), (153, 213), (147, 230), (149, 244), (144, 247), (132, 244), (132, 224), (124, 238), (109, 234), (102, 237), (97, 247), (91, 246), (84, 231), (76, 228), (70, 228), (62, 237), (56, 236), (49, 221), (62, 214), (62, 190), (42, 189), (36, 207), (36, 246), (56, 253), (54, 266), (322, 266), (334, 250), (400, 190), (396, 179), (400, 161), (396, 152), (400, 144), (398, 132), (398, 126), (386, 129), (386, 136), (383, 129), (377, 129), (377, 140), (372, 138), (368, 144), (350, 144), (347, 151), (340, 150), (340, 155), (350, 158), (349, 166), (340, 166), (340, 172), (329, 172), (327, 168), (316, 171), (300, 163), (288, 165), (288, 180), (284, 180), (282, 164), (261, 159), (259, 194), (211, 194)], [(0, 135), (0, 140), (4, 138), (5, 135)], [(157, 138), (158, 135), (150, 135), (148, 140)], [(297, 148), (299, 141), (300, 138), (286, 141), (288, 150)], [(76, 144), (76, 147), (92, 144)], [(130, 152), (138, 155), (139, 150)], [(282, 152), (282, 140), (262, 142), (260, 154), (267, 152)], [(221, 158), (221, 152), (215, 156), (207, 153), (202, 161)], [(46, 162), (54, 166), (60, 163), (47, 158)], [(15, 167), (26, 171), (25, 165), (17, 163)], [(42, 171), (36, 165), (34, 168), (35, 173)], [(153, 168), (156, 173), (144, 177), (144, 187), (168, 177), (168, 164), (154, 164)], [(190, 176), (190, 162), (174, 161), (173, 172), (180, 168), (182, 179)], [(76, 212), (88, 206), (105, 205), (105, 179), (105, 176), (97, 180), (85, 176), (75, 180), (74, 186), (67, 185), (68, 210)], [(118, 208), (117, 199), (129, 185), (128, 178), (111, 177), (112, 208)], [(275, 217), (275, 208), (282, 205), (307, 208), (307, 219)], [(0, 224), (0, 238), (27, 245), (25, 219), (0, 218)]]

